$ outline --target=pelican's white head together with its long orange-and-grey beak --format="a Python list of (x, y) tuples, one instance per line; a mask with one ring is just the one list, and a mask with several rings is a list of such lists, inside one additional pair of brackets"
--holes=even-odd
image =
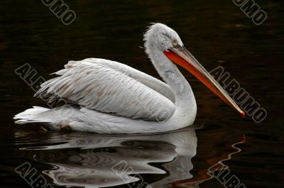
[[(187, 71), (192, 73), (205, 86), (207, 86), (214, 94), (219, 96), (223, 101), (229, 104), (232, 108), (239, 111), (241, 116), (245, 116), (233, 99), (226, 93), (220, 84), (204, 69), (195, 57), (185, 48), (182, 40), (177, 32), (172, 28), (165, 26), (162, 23), (154, 23), (148, 28), (144, 35), (146, 53), (151, 59), (155, 56), (153, 51), (161, 52), (162, 55), (168, 58), (171, 62), (180, 65)], [(157, 54), (160, 55), (160, 54)]]

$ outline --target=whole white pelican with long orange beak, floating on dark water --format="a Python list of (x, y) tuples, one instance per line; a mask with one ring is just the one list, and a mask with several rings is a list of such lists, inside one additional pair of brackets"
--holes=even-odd
[(214, 94), (244, 116), (239, 106), (185, 48), (178, 33), (153, 23), (143, 36), (146, 54), (163, 81), (111, 60), (69, 61), (40, 85), (35, 96), (66, 104), (33, 106), (15, 123), (40, 123), (53, 130), (95, 133), (158, 133), (192, 125), (197, 104), (176, 65), (191, 72)]

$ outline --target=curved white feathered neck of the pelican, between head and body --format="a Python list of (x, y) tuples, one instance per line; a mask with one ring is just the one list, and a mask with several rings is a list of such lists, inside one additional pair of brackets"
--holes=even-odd
[(160, 77), (170, 86), (175, 94), (175, 106), (182, 109), (196, 108), (195, 96), (190, 84), (183, 77), (178, 67), (171, 62), (164, 53), (156, 48), (147, 51), (155, 70)]

